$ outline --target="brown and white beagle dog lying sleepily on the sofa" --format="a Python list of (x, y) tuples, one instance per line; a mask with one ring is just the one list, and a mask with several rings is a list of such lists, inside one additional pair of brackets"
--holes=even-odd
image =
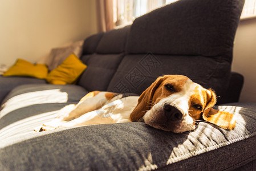
[(139, 97), (93, 91), (78, 104), (67, 105), (60, 115), (35, 131), (82, 125), (144, 121), (154, 128), (174, 133), (192, 131), (196, 121), (205, 120), (224, 129), (235, 127), (232, 113), (217, 111), (216, 94), (188, 77), (164, 75)]

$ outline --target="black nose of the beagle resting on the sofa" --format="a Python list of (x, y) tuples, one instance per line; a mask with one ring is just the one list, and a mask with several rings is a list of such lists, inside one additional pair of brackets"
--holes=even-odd
[(169, 105), (167, 103), (164, 104), (165, 115), (168, 119), (175, 121), (181, 120), (183, 115), (176, 107)]

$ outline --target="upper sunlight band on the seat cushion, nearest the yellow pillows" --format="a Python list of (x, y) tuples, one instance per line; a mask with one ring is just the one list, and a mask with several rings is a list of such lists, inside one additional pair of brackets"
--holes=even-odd
[(0, 118), (7, 113), (15, 111), (20, 108), (28, 107), (34, 104), (46, 104), (46, 103), (66, 103), (68, 101), (68, 94), (61, 92), (60, 89), (49, 89), (43, 91), (35, 91), (22, 93), (11, 97), (6, 103), (2, 105), (0, 111)]

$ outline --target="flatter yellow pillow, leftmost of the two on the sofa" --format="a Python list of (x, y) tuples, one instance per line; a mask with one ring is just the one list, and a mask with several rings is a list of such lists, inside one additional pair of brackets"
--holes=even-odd
[(46, 79), (48, 68), (45, 64), (32, 64), (23, 59), (17, 59), (3, 76), (31, 76), (39, 79)]

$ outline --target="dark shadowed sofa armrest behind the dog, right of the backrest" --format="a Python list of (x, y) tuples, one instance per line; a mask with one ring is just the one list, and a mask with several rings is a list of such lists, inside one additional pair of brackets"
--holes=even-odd
[(242, 91), (243, 82), (243, 75), (237, 72), (231, 72), (231, 78), (226, 94), (224, 97), (218, 98), (218, 104), (238, 102), (240, 93)]

